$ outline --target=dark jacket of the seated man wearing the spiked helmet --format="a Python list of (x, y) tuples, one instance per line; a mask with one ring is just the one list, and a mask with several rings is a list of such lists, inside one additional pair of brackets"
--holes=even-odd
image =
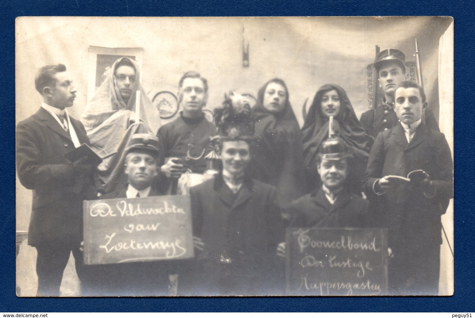
[(371, 227), (368, 201), (346, 189), (332, 205), (320, 187), (295, 200), (291, 211), (290, 227)]

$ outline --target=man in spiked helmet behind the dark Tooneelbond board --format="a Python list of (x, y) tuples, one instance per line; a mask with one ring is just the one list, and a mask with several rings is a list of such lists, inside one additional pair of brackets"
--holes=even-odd
[(343, 140), (323, 141), (317, 157), (322, 186), (293, 202), (290, 227), (369, 227), (368, 201), (345, 186), (348, 156)]

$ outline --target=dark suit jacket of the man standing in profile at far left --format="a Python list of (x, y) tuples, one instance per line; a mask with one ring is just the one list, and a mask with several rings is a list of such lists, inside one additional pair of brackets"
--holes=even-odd
[[(70, 117), (80, 143), (89, 143), (84, 126)], [(18, 177), (33, 190), (28, 244), (81, 242), (82, 201), (94, 199), (94, 171), (78, 173), (64, 156), (73, 141), (44, 108), (19, 122), (16, 135)]]

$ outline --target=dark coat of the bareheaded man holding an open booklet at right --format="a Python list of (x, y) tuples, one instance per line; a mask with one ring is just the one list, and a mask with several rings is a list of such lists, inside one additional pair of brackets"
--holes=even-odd
[[(417, 186), (402, 184), (392, 191), (376, 196), (373, 184), (387, 175), (406, 177), (410, 171), (422, 169), (436, 187), (432, 198), (424, 196)], [(371, 149), (364, 178), (365, 193), (379, 201), (379, 215), (389, 228), (389, 246), (421, 260), (428, 249), (437, 249), (442, 242), (440, 215), (453, 197), (453, 161), (444, 134), (421, 123), (408, 144), (399, 123), (378, 134)], [(425, 262), (430, 262), (425, 260)]]

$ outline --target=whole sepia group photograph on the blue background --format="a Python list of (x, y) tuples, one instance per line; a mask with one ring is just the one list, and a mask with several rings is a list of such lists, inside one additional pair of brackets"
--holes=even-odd
[(18, 297), (451, 296), (451, 17), (19, 17)]

